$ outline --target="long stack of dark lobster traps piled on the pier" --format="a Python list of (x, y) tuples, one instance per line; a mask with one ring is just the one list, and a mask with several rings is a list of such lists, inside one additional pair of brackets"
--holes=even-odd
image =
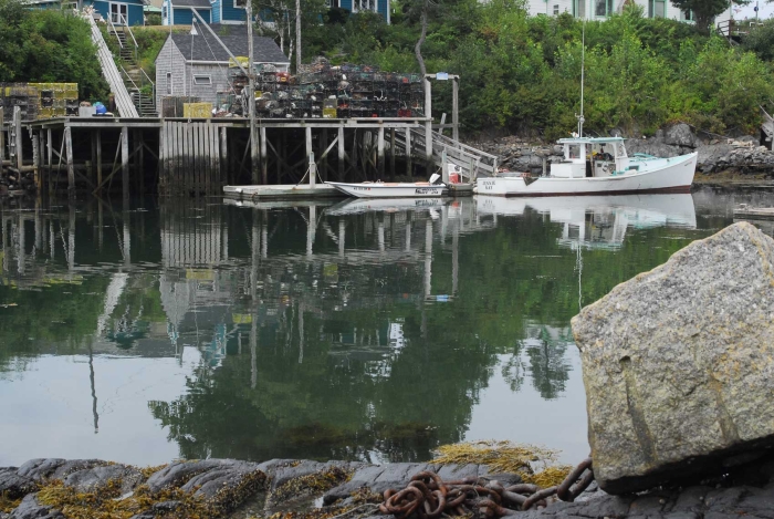
[[(237, 100), (229, 112), (243, 115), (248, 79), (230, 70)], [(425, 94), (420, 74), (381, 72), (376, 66), (332, 66), (325, 58), (302, 65), (291, 76), (270, 64), (255, 70), (255, 113), (263, 118), (421, 117)]]

